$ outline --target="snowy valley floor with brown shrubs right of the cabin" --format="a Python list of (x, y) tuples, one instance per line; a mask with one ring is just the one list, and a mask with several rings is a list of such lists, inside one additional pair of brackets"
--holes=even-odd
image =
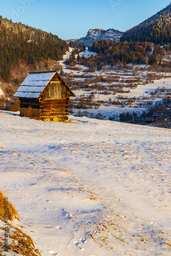
[[(65, 64), (73, 50), (70, 48), (60, 62), (62, 75), (77, 96), (69, 102), (72, 115), (137, 124), (154, 123), (155, 126), (167, 123), (165, 127), (169, 127), (169, 73), (148, 72), (145, 65), (130, 65), (127, 69), (104, 66), (100, 71), (92, 72), (77, 63), (78, 55), (75, 55), (75, 67)], [(88, 52), (88, 49), (80, 53), (84, 58), (91, 55), (96, 53)]]

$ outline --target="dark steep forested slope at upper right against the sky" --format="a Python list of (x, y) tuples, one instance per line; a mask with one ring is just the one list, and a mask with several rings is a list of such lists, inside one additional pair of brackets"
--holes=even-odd
[(171, 4), (138, 26), (127, 30), (122, 41), (151, 41), (156, 44), (171, 42)]

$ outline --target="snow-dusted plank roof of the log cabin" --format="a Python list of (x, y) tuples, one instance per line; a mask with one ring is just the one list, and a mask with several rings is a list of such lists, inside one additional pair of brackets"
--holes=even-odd
[(75, 96), (75, 94), (69, 88), (68, 84), (55, 70), (45, 72), (30, 72), (25, 80), (21, 83), (21, 86), (14, 94), (14, 97), (35, 99), (38, 98), (55, 74), (62, 81), (64, 86), (66, 86), (71, 95)]

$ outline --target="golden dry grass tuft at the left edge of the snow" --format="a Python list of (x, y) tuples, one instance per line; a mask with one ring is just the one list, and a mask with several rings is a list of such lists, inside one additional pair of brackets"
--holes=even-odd
[[(2, 191), (0, 190), (0, 219), (2, 221), (5, 221), (5, 212), (4, 212), (4, 209), (5, 209), (5, 203), (4, 203), (4, 200), (5, 199), (5, 196), (4, 194), (2, 193)], [(8, 202), (8, 220), (10, 221), (13, 221), (13, 219), (17, 219), (19, 220), (19, 216), (18, 216), (18, 213), (15, 209), (15, 207), (12, 205), (11, 202)]]

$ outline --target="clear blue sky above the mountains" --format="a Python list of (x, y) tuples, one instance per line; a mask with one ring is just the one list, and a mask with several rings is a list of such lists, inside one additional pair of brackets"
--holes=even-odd
[(8, 0), (0, 15), (58, 35), (80, 38), (89, 29), (125, 31), (170, 4), (170, 0)]

